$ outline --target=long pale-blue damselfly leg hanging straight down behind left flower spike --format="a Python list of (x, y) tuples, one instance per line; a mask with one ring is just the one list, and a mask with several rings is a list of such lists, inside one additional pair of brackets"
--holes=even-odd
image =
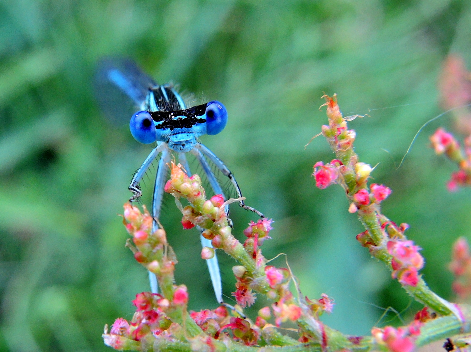
[[(157, 167), (157, 175), (155, 177), (154, 196), (152, 197), (152, 217), (154, 218), (154, 221), (152, 222), (152, 232), (159, 228), (157, 220), (159, 219), (160, 209), (162, 206), (163, 187), (167, 181), (167, 164), (170, 162), (169, 148), (165, 143), (163, 143), (162, 149), (162, 156), (160, 157), (159, 166)], [(158, 293), (159, 286), (157, 284), (157, 278), (155, 277), (155, 274), (150, 271), (149, 281), (152, 293)]]

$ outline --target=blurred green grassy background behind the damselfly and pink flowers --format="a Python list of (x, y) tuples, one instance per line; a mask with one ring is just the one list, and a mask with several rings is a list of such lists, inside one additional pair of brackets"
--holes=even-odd
[[(332, 296), (325, 321), (349, 334), (399, 324), (394, 313), (379, 321), (389, 306), (404, 319), (420, 308), (355, 240), (362, 228), (342, 189), (319, 190), (310, 176), (333, 158), (322, 137), (304, 149), (326, 122), (322, 92), (338, 93), (346, 115), (369, 114), (350, 126), (361, 160), (378, 164), (374, 182), (393, 189), (384, 213), (411, 225), (424, 278), (453, 298), (446, 265), (455, 238), (471, 238), (471, 191), (447, 192), (455, 165), (428, 147), (450, 116), (396, 165), (442, 111), (444, 58), (471, 64), (468, 1), (2, 0), (0, 29), (0, 351), (109, 351), (103, 326), (131, 319), (130, 301), (148, 290), (116, 214), (152, 147), (100, 111), (92, 82), (104, 56), (133, 58), (157, 82), (226, 105), (226, 129), (203, 143), (235, 173), (247, 204), (276, 221), (265, 256), (287, 254), (303, 293)], [(191, 309), (214, 308), (198, 234), (181, 228), (174, 208), (161, 220), (177, 281)], [(255, 218), (237, 206), (231, 214), (243, 239)], [(230, 296), (234, 264), (219, 258)]]

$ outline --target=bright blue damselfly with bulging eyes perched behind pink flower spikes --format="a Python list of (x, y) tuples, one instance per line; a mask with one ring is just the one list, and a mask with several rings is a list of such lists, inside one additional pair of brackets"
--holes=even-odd
[[(140, 143), (157, 143), (157, 146), (150, 152), (142, 166), (134, 173), (129, 186), (130, 191), (133, 193), (130, 201), (134, 201), (142, 195), (139, 181), (154, 159), (160, 155), (152, 200), (154, 230), (159, 226), (158, 219), (161, 212), (163, 188), (167, 181), (168, 164), (171, 161), (172, 153), (176, 154), (179, 163), (183, 165), (188, 176), (191, 176), (191, 174), (186, 153), (193, 154), (201, 164), (214, 194), (222, 194), (227, 200), (218, 179), (211, 170), (209, 164), (211, 162), (230, 180), (237, 196), (242, 197), (241, 190), (232, 172), (210, 149), (198, 141), (198, 137), (203, 134), (215, 135), (224, 129), (227, 123), (227, 111), (224, 105), (213, 100), (205, 104), (187, 107), (171, 84), (156, 84), (152, 78), (143, 74), (130, 61), (104, 61), (99, 70), (98, 79), (101, 82), (107, 80), (116, 85), (140, 109), (130, 119), (132, 136)], [(263, 217), (263, 214), (258, 210), (245, 205), (243, 200), (240, 200), (239, 204), (241, 207)], [(226, 206), (226, 212), (228, 212), (228, 206)], [(204, 238), (201, 234), (200, 237), (202, 246), (211, 247), (210, 240)], [(216, 299), (219, 303), (223, 303), (218, 259), (215, 255), (206, 262)], [(151, 272), (149, 272), (149, 279), (152, 292), (157, 293), (157, 280)]]

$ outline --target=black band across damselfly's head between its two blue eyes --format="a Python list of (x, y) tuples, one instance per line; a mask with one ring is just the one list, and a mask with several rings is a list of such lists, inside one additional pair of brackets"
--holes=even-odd
[(157, 129), (192, 128), (197, 123), (206, 122), (206, 119), (199, 118), (205, 114), (206, 106), (202, 104), (176, 111), (149, 111), (149, 114), (155, 122), (160, 122), (155, 126)]

